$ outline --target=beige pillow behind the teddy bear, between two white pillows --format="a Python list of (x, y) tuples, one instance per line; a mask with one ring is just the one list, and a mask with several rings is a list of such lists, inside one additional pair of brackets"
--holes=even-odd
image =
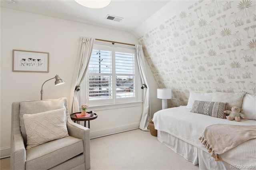
[[(244, 95), (245, 93), (214, 92), (212, 101), (228, 103), (230, 107), (237, 106), (241, 108)], [(228, 108), (228, 110), (230, 109)]]

